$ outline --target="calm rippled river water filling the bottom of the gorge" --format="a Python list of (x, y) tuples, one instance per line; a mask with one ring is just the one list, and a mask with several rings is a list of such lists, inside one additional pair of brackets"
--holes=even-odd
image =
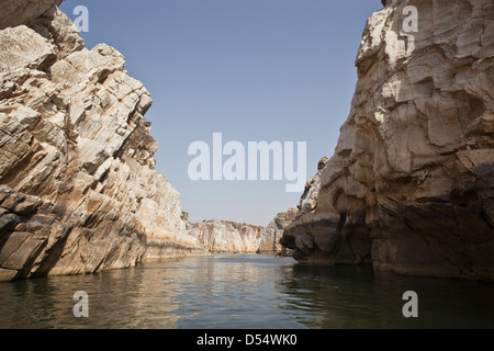
[[(75, 318), (72, 295), (89, 295)], [(404, 318), (403, 293), (418, 294)], [(214, 256), (0, 283), (0, 328), (494, 328), (494, 284)]]

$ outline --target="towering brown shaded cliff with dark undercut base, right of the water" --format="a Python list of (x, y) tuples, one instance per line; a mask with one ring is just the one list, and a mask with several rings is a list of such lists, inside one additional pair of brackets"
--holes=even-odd
[[(494, 3), (368, 20), (348, 120), (283, 244), (301, 262), (494, 280)], [(406, 33), (406, 5), (418, 32)]]

